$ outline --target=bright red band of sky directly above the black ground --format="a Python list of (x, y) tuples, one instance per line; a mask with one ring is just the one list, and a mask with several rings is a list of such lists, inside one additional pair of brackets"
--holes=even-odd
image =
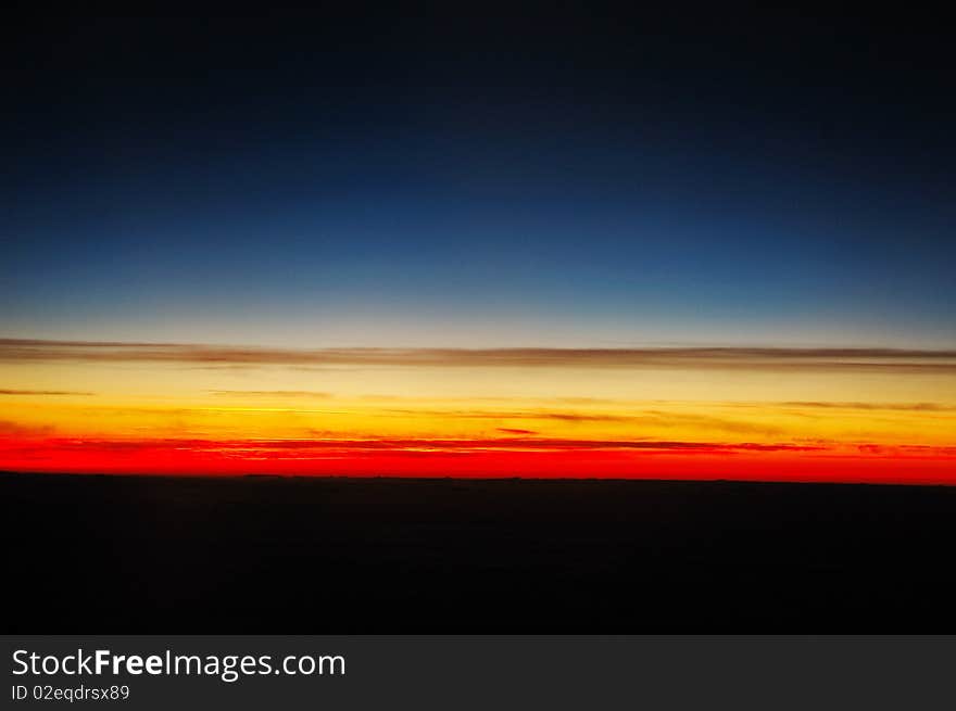
[(701, 447), (483, 449), (435, 443), (354, 446), (343, 443), (77, 440), (0, 443), (4, 468), (113, 474), (318, 475), (414, 478), (573, 478), (745, 481), (826, 481), (956, 484), (956, 452), (833, 453), (781, 448)]

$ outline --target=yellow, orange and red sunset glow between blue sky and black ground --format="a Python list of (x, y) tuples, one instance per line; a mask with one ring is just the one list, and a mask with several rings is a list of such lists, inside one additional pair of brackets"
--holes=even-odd
[(940, 351), (7, 340), (0, 467), (956, 483), (954, 372)]

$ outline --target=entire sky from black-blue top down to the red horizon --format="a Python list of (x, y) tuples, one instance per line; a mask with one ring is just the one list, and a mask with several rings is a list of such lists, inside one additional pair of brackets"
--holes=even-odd
[(956, 480), (943, 28), (3, 31), (0, 468)]

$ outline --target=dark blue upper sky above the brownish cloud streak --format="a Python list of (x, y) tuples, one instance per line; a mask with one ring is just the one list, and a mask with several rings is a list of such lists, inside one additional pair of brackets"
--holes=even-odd
[(956, 344), (932, 18), (29, 18), (3, 335)]

